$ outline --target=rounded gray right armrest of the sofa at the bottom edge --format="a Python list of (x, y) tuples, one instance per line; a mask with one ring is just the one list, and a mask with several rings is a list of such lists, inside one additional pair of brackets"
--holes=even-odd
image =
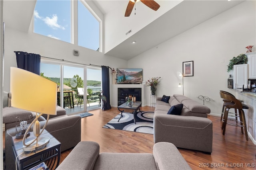
[(191, 169), (178, 149), (172, 143), (156, 143), (153, 147), (153, 156), (158, 170)]

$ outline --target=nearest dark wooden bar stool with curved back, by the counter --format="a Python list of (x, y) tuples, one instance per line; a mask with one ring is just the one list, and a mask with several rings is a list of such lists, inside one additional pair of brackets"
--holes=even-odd
[[(225, 135), (226, 125), (227, 124), (235, 125), (235, 126), (240, 126), (242, 134), (245, 133), (246, 141), (248, 141), (246, 120), (245, 120), (245, 115), (244, 115), (244, 110), (243, 109), (249, 109), (249, 107), (247, 105), (245, 105), (245, 104), (242, 104), (242, 102), (239, 101), (238, 99), (236, 99), (233, 95), (229, 95), (229, 94), (220, 92), (220, 97), (222, 99), (227, 100), (227, 101), (231, 101), (231, 102), (224, 102), (224, 105), (225, 105), (226, 109), (224, 111), (224, 115), (223, 115), (224, 119), (222, 120), (222, 128), (221, 128), (221, 129), (223, 129), (223, 135)], [(234, 120), (234, 121), (239, 122), (240, 125), (227, 123), (227, 121), (228, 121), (228, 114), (230, 113), (228, 111), (231, 108), (233, 108), (235, 110), (238, 110), (240, 121), (238, 121), (238, 120)], [(233, 114), (235, 114), (235, 113), (233, 113)]]

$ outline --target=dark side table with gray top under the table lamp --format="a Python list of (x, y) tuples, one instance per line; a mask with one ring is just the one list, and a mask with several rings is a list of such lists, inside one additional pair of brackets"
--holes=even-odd
[[(48, 131), (44, 130), (40, 137), (49, 137), (50, 142), (46, 147), (32, 152), (25, 152), (23, 150), (22, 139), (15, 139), (12, 137), (12, 150), (14, 158), (17, 158), (16, 164), (18, 170), (28, 170), (34, 166), (44, 162), (50, 170), (54, 170), (60, 164), (60, 146), (61, 143), (55, 139)], [(27, 139), (35, 139), (34, 134), (30, 133)]]

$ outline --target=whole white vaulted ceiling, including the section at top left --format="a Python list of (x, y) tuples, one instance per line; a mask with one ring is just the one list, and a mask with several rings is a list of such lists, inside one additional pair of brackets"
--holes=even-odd
[[(160, 4), (159, 10), (167, 3), (165, 0), (156, 0), (156, 2)], [(184, 0), (105, 53), (106, 55), (125, 60), (132, 59), (144, 51), (175, 37), (241, 2), (243, 1)], [(15, 5), (13, 3), (15, 3)], [(35, 3), (36, 1), (31, 2), (30, 0), (4, 1), (5, 24), (8, 25), (8, 27), (19, 29), (20, 31), (28, 30), (33, 16)], [(94, 0), (93, 3), (104, 15), (121, 8), (123, 9), (123, 12), (120, 13), (120, 15), (124, 17), (128, 0)], [(151, 10), (150, 8), (144, 9), (137, 9), (136, 11), (140, 10), (140, 12), (148, 14), (154, 13), (154, 10)], [(131, 15), (133, 14), (134, 10)], [(136, 45), (132, 45), (132, 41), (136, 41)], [(120, 53), (122, 53), (122, 55), (120, 55)]]

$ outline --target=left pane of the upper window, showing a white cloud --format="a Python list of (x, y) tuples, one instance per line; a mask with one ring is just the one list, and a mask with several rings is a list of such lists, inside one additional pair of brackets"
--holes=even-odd
[(37, 0), (34, 33), (71, 43), (71, 3), (68, 0)]

